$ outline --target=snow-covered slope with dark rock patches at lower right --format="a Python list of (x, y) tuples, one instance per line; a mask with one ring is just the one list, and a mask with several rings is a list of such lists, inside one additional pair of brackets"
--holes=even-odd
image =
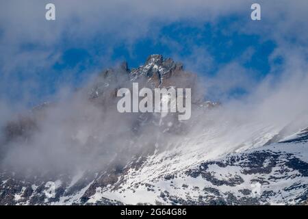
[[(120, 190), (98, 188), (88, 202), (105, 197), (127, 204), (302, 203), (308, 194), (307, 146), (303, 142), (273, 144), (142, 181), (136, 180), (142, 170), (130, 170)], [(260, 192), (254, 194), (257, 186)]]

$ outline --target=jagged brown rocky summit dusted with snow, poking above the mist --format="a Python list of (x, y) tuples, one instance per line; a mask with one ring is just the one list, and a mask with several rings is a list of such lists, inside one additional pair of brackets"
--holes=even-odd
[[(118, 68), (104, 70), (97, 82), (92, 86), (90, 97), (102, 98), (105, 93), (116, 94), (117, 88), (130, 88), (131, 82), (138, 82), (146, 88), (191, 88), (198, 89), (196, 75), (183, 70), (183, 64), (172, 59), (163, 59), (162, 55), (150, 55), (145, 64), (138, 68), (129, 69), (127, 62)], [(196, 96), (197, 98), (197, 96)], [(196, 100), (195, 100), (196, 101)], [(198, 101), (201, 101), (198, 99)]]

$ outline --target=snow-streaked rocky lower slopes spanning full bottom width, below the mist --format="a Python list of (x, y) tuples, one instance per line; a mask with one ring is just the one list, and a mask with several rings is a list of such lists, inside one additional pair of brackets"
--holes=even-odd
[[(1, 175), (1, 204), (299, 204), (308, 195), (308, 142), (294, 138), (220, 159), (187, 160), (185, 153), (154, 154), (125, 170), (73, 179), (60, 176), (55, 198), (46, 181)], [(185, 160), (181, 166), (180, 159)], [(172, 168), (177, 166), (177, 168)], [(255, 193), (256, 192), (256, 193)]]

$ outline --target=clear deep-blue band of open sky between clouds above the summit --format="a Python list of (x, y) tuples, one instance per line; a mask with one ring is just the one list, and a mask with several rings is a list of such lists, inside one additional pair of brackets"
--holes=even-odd
[[(111, 48), (110, 55), (112, 61), (127, 60), (131, 68), (144, 63), (146, 57), (151, 54), (162, 54), (164, 57), (172, 57), (175, 53), (180, 57), (192, 55), (194, 47), (204, 48), (209, 51), (209, 55), (214, 58), (215, 65), (209, 69), (204, 69), (203, 73), (214, 74), (218, 66), (227, 64), (232, 60), (238, 59), (247, 49), (253, 49), (253, 54), (243, 62), (244, 66), (257, 71), (259, 77), (270, 72), (268, 56), (274, 51), (275, 44), (271, 40), (261, 41), (261, 36), (256, 34), (242, 34), (237, 31), (228, 35), (223, 31), (236, 21), (220, 21), (219, 28), (204, 23), (201, 27), (194, 27), (194, 24), (188, 22), (172, 23), (159, 29), (155, 34), (157, 38), (144, 37), (136, 40), (128, 48), (125, 40), (120, 41)], [(183, 45), (181, 48), (172, 47), (172, 44), (160, 40), (168, 38), (177, 44)], [(188, 46), (185, 46), (188, 45)], [(108, 67), (94, 62), (95, 57), (105, 55), (110, 48), (103, 40), (89, 42), (85, 47), (79, 47), (78, 44), (60, 44), (58, 48), (61, 53), (61, 60), (55, 62), (54, 70), (66, 70), (77, 67), (82, 72), (89, 64), (101, 68)], [(182, 60), (178, 60), (182, 61)], [(188, 69), (189, 70), (189, 69)]]

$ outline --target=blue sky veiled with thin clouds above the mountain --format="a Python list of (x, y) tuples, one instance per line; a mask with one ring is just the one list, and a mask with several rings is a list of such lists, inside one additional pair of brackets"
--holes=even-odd
[[(299, 10), (297, 20), (279, 21), (279, 13), (288, 18), (289, 6), (277, 6), (275, 1), (261, 3), (261, 21), (251, 21), (250, 1), (240, 0), (231, 5), (227, 1), (193, 1), (192, 5), (181, 1), (182, 6), (170, 1), (171, 9), (160, 1), (157, 5), (106, 1), (100, 3), (105, 11), (96, 9), (99, 1), (88, 5), (54, 1), (56, 21), (44, 20), (44, 1), (29, 2), (12, 1), (1, 7), (0, 96), (11, 102), (36, 105), (64, 84), (77, 88), (103, 68), (123, 60), (130, 68), (137, 67), (153, 53), (183, 62), (186, 70), (205, 78), (222, 81), (222, 91), (209, 92), (209, 98), (232, 98), (250, 92), (268, 75), (279, 77), (287, 47), (304, 48), (307, 55), (306, 33), (292, 27), (298, 19), (305, 21), (305, 13)], [(81, 5), (84, 10), (79, 11)], [(149, 5), (152, 9), (144, 10)], [(283, 10), (276, 13), (279, 7)], [(23, 13), (19, 13), (21, 8)], [(229, 79), (233, 84), (225, 85)]]

